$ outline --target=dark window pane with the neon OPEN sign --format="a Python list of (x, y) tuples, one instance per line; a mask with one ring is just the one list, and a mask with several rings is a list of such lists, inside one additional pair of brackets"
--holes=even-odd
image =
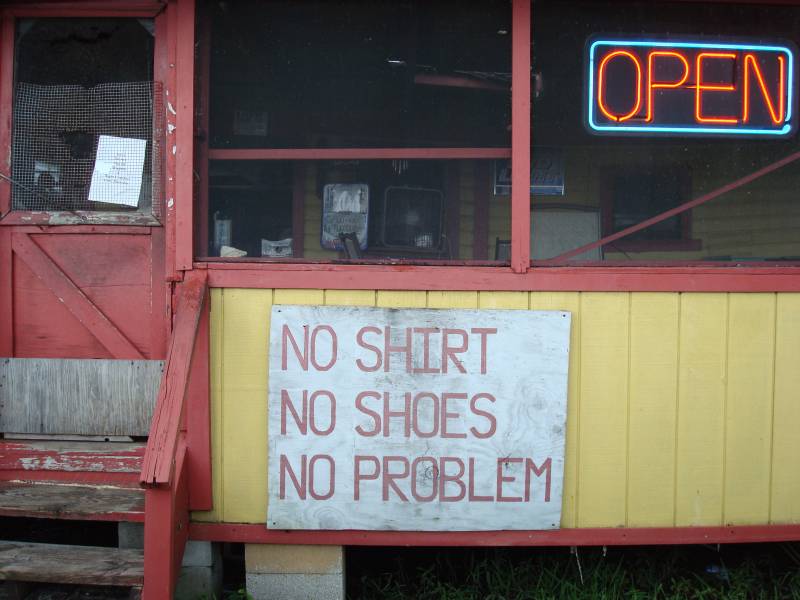
[(555, 150), (564, 183), (534, 260), (800, 260), (800, 7), (536, 0), (532, 27), (533, 179)]

